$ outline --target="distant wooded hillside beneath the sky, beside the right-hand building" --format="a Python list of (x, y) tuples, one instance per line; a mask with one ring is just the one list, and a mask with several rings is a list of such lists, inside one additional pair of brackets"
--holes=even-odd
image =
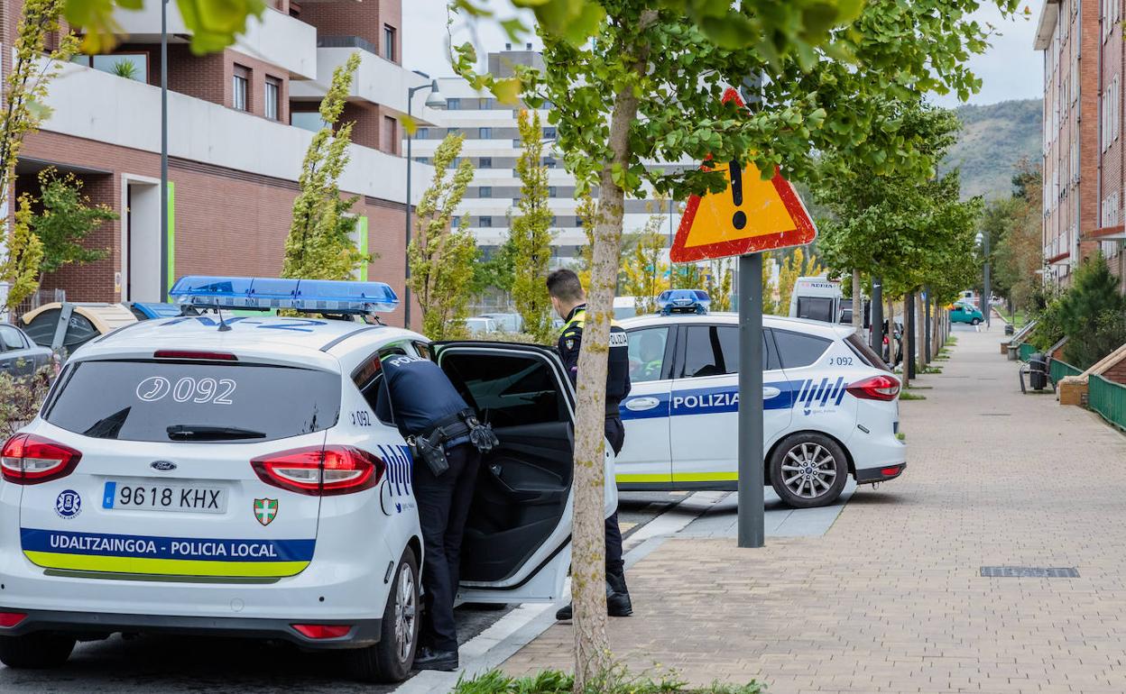
[(957, 144), (950, 148), (942, 171), (962, 170), (962, 193), (969, 198), (1007, 197), (1012, 189), (1012, 166), (1022, 156), (1040, 159), (1039, 99), (1001, 101), (955, 109), (963, 123)]

